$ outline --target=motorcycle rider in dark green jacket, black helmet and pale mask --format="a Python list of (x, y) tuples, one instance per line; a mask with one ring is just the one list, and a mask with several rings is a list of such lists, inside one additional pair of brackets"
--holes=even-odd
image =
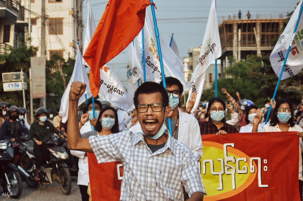
[(60, 131), (57, 130), (51, 122), (47, 120), (47, 110), (44, 108), (38, 108), (36, 110), (37, 121), (32, 123), (29, 133), (32, 135), (32, 140), (34, 141), (34, 154), (36, 157), (36, 173), (35, 180), (40, 180), (39, 178), (39, 169), (42, 166), (42, 163), (48, 159), (46, 148), (42, 145), (43, 138), (51, 139), (51, 133), (56, 133), (58, 136), (63, 138)]

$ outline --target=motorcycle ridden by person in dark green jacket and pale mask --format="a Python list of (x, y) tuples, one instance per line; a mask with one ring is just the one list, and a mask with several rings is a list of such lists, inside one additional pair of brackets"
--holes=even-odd
[(63, 147), (60, 147), (60, 140), (57, 136), (52, 139), (44, 138), (42, 145), (45, 146), (49, 153), (50, 160), (46, 161), (46, 165), (42, 165), (39, 170), (40, 180), (34, 180), (36, 171), (36, 158), (34, 154), (34, 148), (26, 146), (26, 154), (29, 160), (25, 164), (25, 171), (31, 175), (31, 177), (25, 178), (25, 182), (30, 188), (35, 188), (39, 184), (52, 183), (57, 181), (61, 187), (63, 194), (68, 195), (72, 190), (72, 179), (68, 170), (67, 164), (64, 162), (68, 159), (68, 155)]

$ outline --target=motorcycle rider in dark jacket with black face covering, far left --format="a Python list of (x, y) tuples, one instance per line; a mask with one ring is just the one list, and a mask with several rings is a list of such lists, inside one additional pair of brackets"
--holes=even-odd
[[(6, 120), (1, 126), (0, 135), (2, 140), (10, 140), (12, 142), (15, 142), (20, 136), (22, 136), (22, 133), (29, 133), (28, 129), (23, 127), (20, 121), (17, 121), (19, 114), (20, 111), (18, 107), (14, 105), (8, 109), (9, 119)], [(14, 147), (6, 148), (6, 151), (9, 153), (9, 155), (11, 155), (11, 157), (14, 157)]]

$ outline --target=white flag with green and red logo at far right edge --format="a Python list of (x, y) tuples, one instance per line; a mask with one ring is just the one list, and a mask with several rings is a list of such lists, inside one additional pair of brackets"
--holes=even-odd
[[(301, 6), (302, 0), (292, 14), (274, 50), (270, 54), (269, 59), (271, 66), (276, 75), (280, 77), (288, 47), (291, 45), (281, 80), (298, 74), (303, 68), (303, 15), (298, 19)], [(299, 21), (299, 24), (294, 34), (297, 21)]]

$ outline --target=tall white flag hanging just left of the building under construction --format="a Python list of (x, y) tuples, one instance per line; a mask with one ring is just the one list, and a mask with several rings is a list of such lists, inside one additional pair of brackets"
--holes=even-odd
[[(192, 93), (195, 91), (197, 92), (197, 99), (191, 111), (197, 110), (199, 106), (205, 81), (206, 69), (213, 61), (222, 55), (215, 4), (215, 0), (212, 0), (198, 63), (188, 85), (189, 91), (187, 103), (191, 99)], [(202, 81), (203, 84), (201, 83)]]

